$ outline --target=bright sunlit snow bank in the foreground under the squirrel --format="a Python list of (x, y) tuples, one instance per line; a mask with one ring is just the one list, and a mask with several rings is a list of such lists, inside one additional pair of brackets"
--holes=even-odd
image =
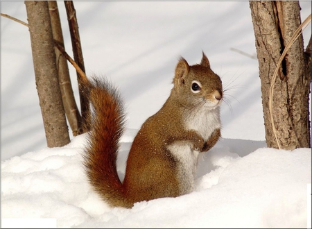
[[(2, 218), (53, 218), (62, 228), (306, 227), (311, 149), (279, 151), (264, 148), (264, 142), (223, 139), (200, 155), (196, 192), (128, 210), (108, 207), (89, 186), (84, 144), (81, 135), (62, 148), (1, 162)], [(121, 178), (129, 149), (123, 142), (117, 164)]]

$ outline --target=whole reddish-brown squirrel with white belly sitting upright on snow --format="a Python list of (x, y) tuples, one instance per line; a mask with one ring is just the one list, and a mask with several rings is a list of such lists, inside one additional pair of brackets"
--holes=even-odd
[(193, 191), (198, 154), (216, 144), (221, 128), (222, 81), (204, 52), (200, 65), (190, 66), (182, 57), (178, 61), (170, 96), (132, 142), (123, 182), (116, 170), (125, 127), (121, 96), (96, 76), (82, 85), (92, 108), (83, 163), (89, 183), (106, 203), (131, 208)]

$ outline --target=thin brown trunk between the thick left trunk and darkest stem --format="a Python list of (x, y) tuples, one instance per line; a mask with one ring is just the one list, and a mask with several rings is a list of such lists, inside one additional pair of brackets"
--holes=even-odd
[[(55, 42), (58, 42), (64, 48), (64, 40), (62, 35), (62, 26), (60, 23), (60, 15), (58, 12), (58, 3), (56, 1), (48, 1), (51, 26), (53, 32), (53, 38)], [(58, 67), (58, 78), (60, 81), (60, 90), (62, 92), (62, 101), (64, 105), (65, 112), (67, 114), (67, 119), (73, 136), (80, 133), (81, 126), (81, 116), (76, 105), (75, 98), (73, 96), (73, 89), (71, 87), (71, 78), (69, 76), (69, 69), (67, 65), (67, 59), (62, 56), (62, 53), (58, 48), (55, 47), (56, 64)]]

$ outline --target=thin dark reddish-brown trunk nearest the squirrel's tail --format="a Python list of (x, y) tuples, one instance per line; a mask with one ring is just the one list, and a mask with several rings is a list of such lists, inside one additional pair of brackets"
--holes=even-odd
[[(64, 4), (67, 12), (69, 31), (71, 33), (71, 45), (73, 46), (73, 60), (75, 60), (80, 69), (82, 69), (83, 72), (85, 72), (85, 64), (83, 62), (83, 51), (81, 49), (78, 22), (76, 18), (76, 10), (73, 7), (73, 1), (64, 1)], [(87, 101), (87, 98), (83, 94), (85, 90), (82, 87), (81, 76), (78, 74), (78, 72), (77, 79), (80, 96), (81, 117), (83, 121), (82, 124), (83, 133), (85, 133), (89, 130), (89, 121), (87, 120), (87, 117), (89, 117), (89, 101)]]

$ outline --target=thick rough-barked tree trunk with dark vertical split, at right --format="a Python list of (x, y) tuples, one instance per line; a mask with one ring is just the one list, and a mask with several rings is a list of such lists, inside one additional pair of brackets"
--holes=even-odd
[[(298, 1), (250, 1), (256, 37), (262, 105), (268, 147), (277, 148), (268, 106), (269, 90), (277, 62), (300, 26)], [(281, 149), (311, 147), (309, 93), (311, 69), (307, 69), (300, 35), (288, 50), (277, 74), (272, 98), (272, 116)]]

